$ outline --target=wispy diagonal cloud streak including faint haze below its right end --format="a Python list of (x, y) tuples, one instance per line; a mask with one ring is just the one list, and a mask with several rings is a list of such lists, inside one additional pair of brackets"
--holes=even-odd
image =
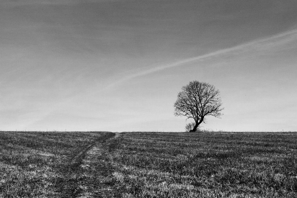
[(210, 58), (210, 57), (215, 57), (218, 55), (224, 55), (224, 54), (228, 54), (228, 53), (238, 53), (239, 51), (245, 51), (245, 50), (265, 50), (267, 48), (270, 48), (272, 46), (279, 46), (279, 45), (283, 45), (286, 43), (290, 43), (292, 41), (297, 41), (297, 29), (293, 29), (290, 31), (286, 31), (286, 32), (282, 32), (270, 37), (266, 37), (266, 38), (261, 38), (261, 39), (257, 39), (251, 42), (247, 42), (247, 43), (243, 43), (234, 47), (230, 47), (230, 48), (225, 48), (225, 49), (221, 49), (221, 50), (217, 50), (208, 54), (204, 54), (204, 55), (200, 55), (200, 56), (196, 56), (196, 57), (192, 57), (192, 58), (188, 58), (188, 59), (183, 59), (183, 60), (179, 60), (177, 62), (174, 63), (170, 63), (170, 64), (165, 64), (165, 65), (159, 65), (157, 67), (154, 68), (150, 68), (144, 71), (140, 71), (138, 73), (133, 73), (131, 75), (127, 75), (113, 83), (111, 83), (110, 85), (104, 87), (103, 89), (101, 89), (101, 91), (104, 90), (108, 90), (120, 83), (123, 83), (125, 81), (131, 80), (133, 78), (136, 77), (140, 77), (140, 76), (145, 76), (151, 73), (156, 73), (159, 72), (161, 70), (165, 70), (168, 68), (173, 68), (173, 67), (179, 67), (182, 66), (186, 63), (190, 63), (192, 61), (197, 61), (197, 60), (201, 60), (201, 59), (205, 59), (205, 58)]

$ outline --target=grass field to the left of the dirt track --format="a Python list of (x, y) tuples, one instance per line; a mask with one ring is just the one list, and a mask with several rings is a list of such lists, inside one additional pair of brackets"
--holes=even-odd
[[(79, 162), (78, 157), (84, 157), (82, 151), (88, 145), (110, 135), (110, 132), (1, 131), (0, 197), (74, 197), (62, 193), (84, 190), (80, 189), (83, 185), (78, 185), (84, 175), (77, 167), (72, 173), (75, 178), (65, 180), (71, 163), (73, 166)], [(74, 189), (60, 189), (67, 187), (65, 183), (73, 184)]]

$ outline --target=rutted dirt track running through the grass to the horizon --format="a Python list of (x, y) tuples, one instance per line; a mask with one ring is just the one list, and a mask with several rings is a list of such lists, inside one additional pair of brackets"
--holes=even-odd
[(65, 166), (64, 177), (56, 181), (56, 198), (114, 197), (111, 166), (106, 160), (112, 140), (120, 134), (106, 134), (89, 144)]

